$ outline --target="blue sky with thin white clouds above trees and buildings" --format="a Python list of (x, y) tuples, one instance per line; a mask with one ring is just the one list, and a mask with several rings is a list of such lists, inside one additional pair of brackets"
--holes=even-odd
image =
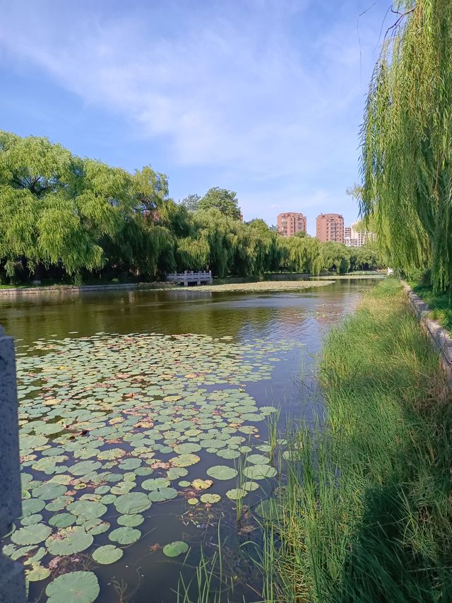
[(334, 211), (350, 223), (389, 6), (0, 0), (0, 128), (127, 170), (150, 164), (176, 200), (232, 189), (246, 220), (302, 211), (314, 233)]

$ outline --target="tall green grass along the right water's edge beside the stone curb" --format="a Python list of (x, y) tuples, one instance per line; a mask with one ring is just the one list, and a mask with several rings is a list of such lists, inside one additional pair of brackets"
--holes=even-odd
[(331, 333), (320, 377), (328, 419), (292, 435), (266, 600), (450, 600), (452, 400), (398, 281)]

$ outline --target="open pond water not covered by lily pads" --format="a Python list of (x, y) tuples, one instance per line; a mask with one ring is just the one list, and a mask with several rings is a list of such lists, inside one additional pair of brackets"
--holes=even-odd
[[(18, 353), (25, 354), (29, 353), (27, 346), (38, 339), (79, 338), (98, 332), (190, 333), (215, 339), (232, 338), (222, 341), (223, 344), (250, 344), (261, 340), (289, 342), (293, 344), (290, 349), (271, 353), (280, 361), (275, 364), (270, 380), (243, 384), (258, 406), (280, 408), (279, 421), (283, 428), (287, 421), (293, 424), (299, 418), (309, 418), (314, 409), (319, 409), (321, 401), (315, 394), (313, 369), (322, 340), (333, 325), (354, 310), (362, 292), (374, 283), (369, 279), (343, 279), (300, 293), (206, 293), (190, 289), (23, 295), (15, 299), (0, 298), (0, 324), (16, 339)], [(266, 437), (265, 430), (263, 423), (259, 423), (262, 440)], [(201, 462), (196, 465), (194, 477), (206, 477), (203, 472), (213, 464), (234, 466), (234, 462), (219, 459), (205, 450), (199, 455)], [(234, 488), (230, 482), (215, 486), (218, 486), (215, 492), (222, 495)], [(246, 498), (246, 504), (252, 510), (271, 489), (271, 483), (261, 483), (259, 491)], [(172, 540), (184, 540), (191, 545), (182, 569), (188, 582), (194, 575), (201, 545), (208, 557), (218, 551), (218, 522), (220, 539), (225, 541), (225, 571), (234, 577), (236, 585), (234, 594), (229, 595), (230, 601), (259, 600), (258, 575), (240, 550), (244, 542), (258, 541), (258, 530), (249, 533), (237, 530), (233, 501), (223, 496), (220, 503), (200, 515), (178, 496), (154, 504), (144, 515), (145, 523), (139, 527), (143, 537), (124, 549), (120, 561), (111, 566), (96, 566), (81, 560), (88, 563), (88, 568), (99, 578), (100, 602), (177, 602), (174, 591), (182, 562), (180, 558), (166, 558), (157, 545)], [(102, 534), (95, 542), (108, 544), (109, 540)], [(48, 581), (32, 583), (30, 601), (46, 600), (42, 591)], [(191, 589), (191, 600), (197, 600), (196, 587)]]

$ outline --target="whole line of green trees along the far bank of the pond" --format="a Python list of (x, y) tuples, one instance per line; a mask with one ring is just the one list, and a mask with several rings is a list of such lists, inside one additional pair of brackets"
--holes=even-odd
[(169, 198), (149, 165), (131, 173), (74, 156), (37, 136), (0, 131), (0, 279), (153, 280), (172, 271), (215, 276), (319, 274), (379, 265), (374, 245), (350, 248), (244, 223), (237, 195)]

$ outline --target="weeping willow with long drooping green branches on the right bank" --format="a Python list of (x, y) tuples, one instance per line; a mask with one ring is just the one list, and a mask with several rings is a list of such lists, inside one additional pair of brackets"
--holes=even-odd
[(410, 274), (452, 286), (452, 2), (399, 3), (371, 79), (362, 130), (361, 211)]

